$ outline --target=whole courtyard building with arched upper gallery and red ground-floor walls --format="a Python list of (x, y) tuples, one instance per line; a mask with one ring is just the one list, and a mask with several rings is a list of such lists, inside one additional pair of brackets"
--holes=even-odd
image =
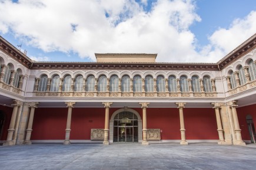
[(35, 62), (0, 37), (0, 142), (255, 143), (256, 34), (217, 63)]

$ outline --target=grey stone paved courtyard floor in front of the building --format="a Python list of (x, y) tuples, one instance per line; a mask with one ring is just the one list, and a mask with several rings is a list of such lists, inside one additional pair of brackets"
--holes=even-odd
[(256, 145), (0, 146), (0, 169), (255, 169)]

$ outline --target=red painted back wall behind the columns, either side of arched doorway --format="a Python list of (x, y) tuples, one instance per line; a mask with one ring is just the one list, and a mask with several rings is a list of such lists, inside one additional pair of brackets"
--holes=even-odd
[[(119, 108), (110, 108), (111, 115)], [(142, 109), (133, 108), (142, 118)], [(68, 108), (37, 108), (31, 140), (64, 140)], [(189, 140), (217, 140), (217, 123), (212, 108), (184, 108)], [(104, 128), (105, 108), (73, 108), (71, 140), (90, 140), (91, 128)], [(162, 140), (180, 140), (177, 108), (147, 108), (147, 128), (160, 128)]]

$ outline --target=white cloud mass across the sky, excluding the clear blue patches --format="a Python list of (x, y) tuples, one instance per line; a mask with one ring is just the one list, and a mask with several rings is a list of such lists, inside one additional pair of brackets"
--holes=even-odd
[(158, 0), (150, 12), (131, 0), (0, 0), (0, 32), (25, 36), (45, 52), (93, 60), (94, 53), (158, 53), (158, 62), (217, 62), (255, 33), (255, 13), (215, 31), (200, 52), (189, 30), (201, 21), (192, 0)]

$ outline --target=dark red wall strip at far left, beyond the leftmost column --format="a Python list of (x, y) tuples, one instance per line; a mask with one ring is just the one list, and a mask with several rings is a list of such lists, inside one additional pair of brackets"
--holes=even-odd
[(9, 125), (11, 123), (12, 110), (13, 110), (12, 107), (0, 106), (1, 113), (5, 114), (4, 126), (3, 126), (3, 129), (2, 129), (2, 135), (1, 135), (1, 138), (0, 138), (1, 141), (5, 141), (6, 138), (7, 138), (7, 134), (8, 134), (7, 130), (8, 130)]

